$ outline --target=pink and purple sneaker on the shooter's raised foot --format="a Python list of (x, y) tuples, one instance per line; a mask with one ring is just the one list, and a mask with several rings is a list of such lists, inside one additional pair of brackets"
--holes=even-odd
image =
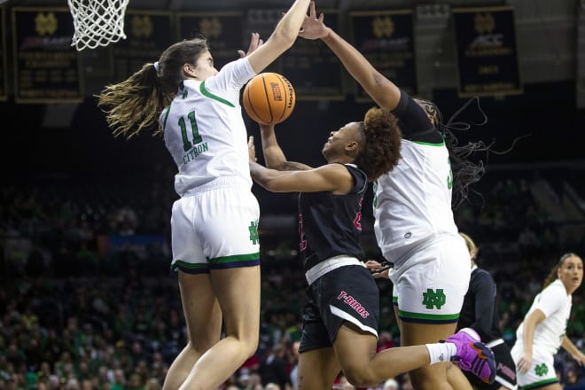
[(480, 342), (480, 335), (472, 328), (463, 328), (449, 336), (445, 342), (453, 343), (457, 347), (456, 355), (451, 362), (461, 370), (469, 371), (482, 381), (491, 385), (495, 379), (494, 353), (484, 343)]

